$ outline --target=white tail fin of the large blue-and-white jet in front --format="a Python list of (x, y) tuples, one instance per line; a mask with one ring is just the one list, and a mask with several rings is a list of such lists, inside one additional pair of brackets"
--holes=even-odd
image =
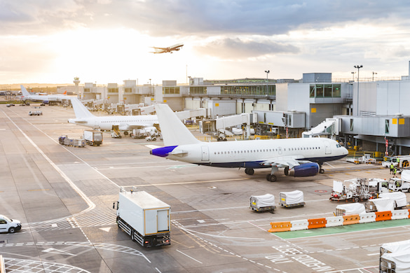
[(193, 134), (172, 112), (168, 104), (156, 104), (155, 111), (165, 146), (197, 144), (200, 142), (196, 137), (193, 137)]

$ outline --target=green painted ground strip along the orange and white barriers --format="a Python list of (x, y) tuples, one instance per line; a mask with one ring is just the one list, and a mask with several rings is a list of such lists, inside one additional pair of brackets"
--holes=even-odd
[(295, 239), (303, 237), (321, 236), (321, 235), (332, 235), (346, 232), (357, 232), (363, 230), (378, 230), (381, 228), (394, 228), (403, 225), (410, 225), (410, 219), (402, 220), (391, 220), (391, 221), (381, 221), (373, 223), (363, 223), (355, 225), (342, 225), (340, 227), (332, 228), (315, 228), (313, 230), (295, 230), (286, 232), (274, 232), (276, 235), (282, 239)]

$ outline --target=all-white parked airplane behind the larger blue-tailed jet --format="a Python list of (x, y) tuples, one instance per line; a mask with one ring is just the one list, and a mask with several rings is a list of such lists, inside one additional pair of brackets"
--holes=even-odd
[(154, 124), (158, 124), (156, 115), (94, 116), (76, 97), (71, 97), (71, 105), (73, 106), (76, 118), (70, 118), (68, 122), (91, 127), (96, 130), (119, 130), (127, 135), (128, 131), (133, 129), (153, 127)]

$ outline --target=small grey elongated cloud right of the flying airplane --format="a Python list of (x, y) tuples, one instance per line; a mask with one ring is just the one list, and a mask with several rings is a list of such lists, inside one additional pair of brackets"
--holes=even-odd
[(219, 57), (221, 59), (244, 59), (299, 52), (294, 45), (275, 43), (273, 41), (242, 41), (240, 38), (223, 38), (196, 48), (198, 53)]

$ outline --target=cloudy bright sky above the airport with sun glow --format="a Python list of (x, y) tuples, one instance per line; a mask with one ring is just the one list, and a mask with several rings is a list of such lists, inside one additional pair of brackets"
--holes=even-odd
[(406, 76), (409, 14), (408, 0), (0, 0), (0, 84)]

